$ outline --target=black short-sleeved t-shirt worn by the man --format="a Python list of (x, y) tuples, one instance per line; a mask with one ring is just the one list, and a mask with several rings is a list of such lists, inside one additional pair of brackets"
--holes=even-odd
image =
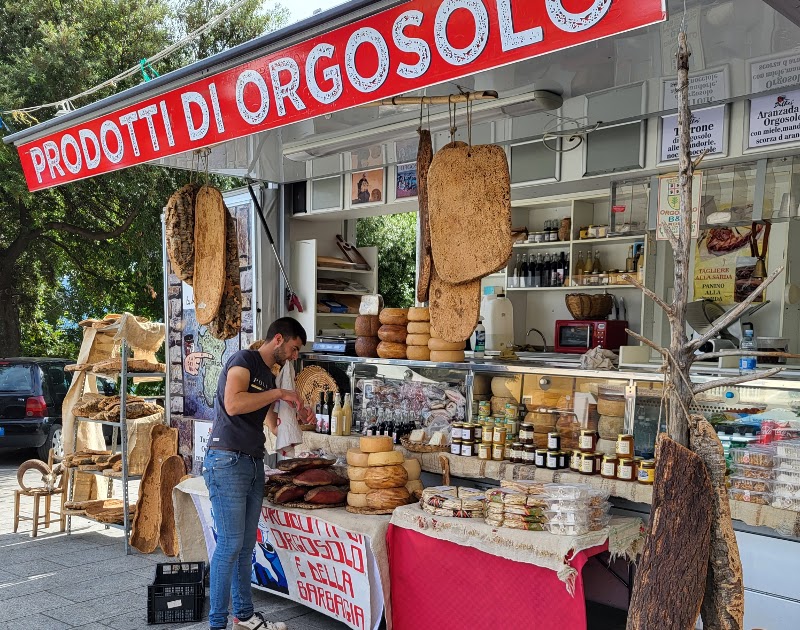
[(250, 372), (250, 393), (275, 389), (275, 377), (256, 350), (240, 350), (234, 354), (222, 370), (214, 400), (216, 418), (211, 428), (209, 446), (241, 451), (256, 458), (264, 457), (264, 419), (269, 405), (250, 413), (230, 415), (225, 409), (225, 384), (228, 370), (243, 367)]

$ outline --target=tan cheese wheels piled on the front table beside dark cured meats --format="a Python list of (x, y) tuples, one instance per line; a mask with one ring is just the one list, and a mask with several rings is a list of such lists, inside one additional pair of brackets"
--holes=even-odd
[[(415, 461), (416, 460), (409, 460)], [(416, 489), (419, 482), (419, 462), (411, 465), (411, 476), (416, 476)], [(393, 510), (406, 505), (411, 500), (407, 485), (409, 469), (402, 451), (394, 450), (392, 438), (388, 435), (362, 437), (359, 448), (347, 451), (347, 476), (350, 479), (350, 492), (347, 504), (354, 508), (368, 510)]]

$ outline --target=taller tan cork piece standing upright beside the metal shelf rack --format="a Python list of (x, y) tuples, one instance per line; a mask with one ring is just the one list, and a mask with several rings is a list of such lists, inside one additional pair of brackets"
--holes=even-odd
[(150, 430), (150, 459), (139, 484), (139, 500), (131, 528), (131, 546), (153, 553), (161, 532), (161, 466), (178, 453), (178, 430), (156, 424)]

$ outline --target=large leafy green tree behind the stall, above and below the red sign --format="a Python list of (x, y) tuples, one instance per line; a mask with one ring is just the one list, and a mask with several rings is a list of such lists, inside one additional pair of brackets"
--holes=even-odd
[[(0, 0), (0, 110), (58, 101), (136, 65), (234, 0)], [(280, 27), (251, 0), (159, 73)], [(84, 105), (141, 82), (133, 77)], [(53, 110), (34, 116), (43, 121)], [(36, 122), (5, 116), (14, 130)], [(0, 133), (6, 134), (3, 129)], [(29, 193), (0, 144), (0, 356), (74, 356), (77, 322), (106, 312), (163, 318), (161, 211), (188, 174), (139, 166)]]

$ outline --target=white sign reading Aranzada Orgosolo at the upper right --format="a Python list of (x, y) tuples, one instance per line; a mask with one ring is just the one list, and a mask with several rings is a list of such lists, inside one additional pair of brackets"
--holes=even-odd
[(750, 99), (749, 149), (800, 141), (800, 90)]

